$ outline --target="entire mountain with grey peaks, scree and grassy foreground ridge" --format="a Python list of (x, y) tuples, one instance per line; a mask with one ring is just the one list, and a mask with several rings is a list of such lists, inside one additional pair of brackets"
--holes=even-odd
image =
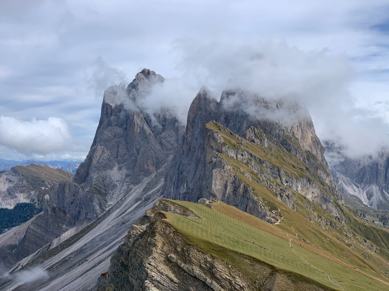
[[(74, 180), (0, 237), (2, 288), (387, 289), (386, 218), (345, 205), (302, 104), (202, 86), (184, 125), (145, 106), (165, 81), (143, 69), (105, 90)], [(47, 276), (15, 279), (33, 268)]]

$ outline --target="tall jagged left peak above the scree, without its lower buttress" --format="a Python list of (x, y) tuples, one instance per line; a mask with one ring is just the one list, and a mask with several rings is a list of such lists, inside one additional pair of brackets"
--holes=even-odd
[(88, 191), (96, 187), (109, 195), (126, 180), (139, 184), (167, 162), (182, 139), (177, 116), (167, 108), (148, 113), (142, 100), (163, 77), (143, 69), (125, 88), (124, 84), (104, 92), (95, 139), (75, 182)]

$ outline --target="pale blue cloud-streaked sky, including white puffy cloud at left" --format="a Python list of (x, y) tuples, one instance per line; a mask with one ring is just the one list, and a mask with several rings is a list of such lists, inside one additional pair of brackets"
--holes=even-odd
[[(388, 15), (387, 1), (2, 1), (0, 158), (83, 160), (108, 86), (128, 84), (141, 69), (152, 69), (176, 80), (172, 87), (182, 87), (182, 80), (190, 83), (177, 89), (177, 96), (169, 95), (173, 103), (185, 95), (179, 106), (184, 112), (202, 83), (217, 95), (226, 82), (222, 66), (212, 60), (224, 64), (245, 43), (269, 42), (289, 47), (279, 51), (279, 59), (296, 47), (308, 59), (325, 51), (333, 64), (315, 63), (320, 71), (316, 90), (336, 87), (328, 91), (331, 96), (321, 95), (327, 111), (320, 100), (303, 99), (321, 139), (342, 135), (350, 148), (360, 144), (356, 135), (381, 143), (389, 120)], [(198, 50), (191, 51), (187, 43)], [(215, 47), (225, 52), (234, 46), (231, 55), (218, 59)], [(185, 59), (188, 55), (195, 65)], [(212, 65), (196, 67), (208, 59)], [(194, 76), (193, 66), (197, 73), (205, 70), (220, 78)], [(304, 68), (299, 63), (294, 70)], [(301, 78), (305, 86), (307, 77)], [(329, 84), (331, 78), (335, 85)], [(346, 97), (340, 87), (347, 89)], [(303, 90), (298, 92), (304, 95)], [(333, 107), (338, 111), (331, 115)], [(340, 118), (342, 110), (347, 114)], [(380, 138), (371, 139), (372, 133)], [(366, 147), (354, 146), (353, 153), (364, 153)]]

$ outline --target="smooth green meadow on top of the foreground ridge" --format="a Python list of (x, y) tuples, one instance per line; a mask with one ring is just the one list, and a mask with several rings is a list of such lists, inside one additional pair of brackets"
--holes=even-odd
[[(386, 285), (350, 267), (318, 255), (299, 244), (292, 244), (292, 249), (289, 240), (251, 225), (253, 223), (245, 223), (244, 215), (242, 221), (218, 211), (218, 204), (222, 204), (225, 209), (230, 208), (231, 212), (239, 211), (224, 203), (217, 202), (214, 209), (210, 209), (202, 204), (174, 202), (196, 211), (204, 219), (165, 213), (166, 222), (205, 251), (212, 249), (210, 245), (222, 246), (226, 249), (225, 257), (223, 258), (221, 251), (214, 255), (221, 256), (224, 260), (228, 260), (227, 250), (233, 250), (276, 268), (303, 275), (333, 289), (342, 290), (344, 288), (350, 291), (389, 289), (389, 284)], [(259, 224), (266, 224), (258, 218), (252, 217), (252, 219), (257, 220)], [(282, 232), (282, 230), (278, 231)], [(286, 233), (283, 235), (288, 237)], [(257, 244), (259, 244), (258, 248)]]

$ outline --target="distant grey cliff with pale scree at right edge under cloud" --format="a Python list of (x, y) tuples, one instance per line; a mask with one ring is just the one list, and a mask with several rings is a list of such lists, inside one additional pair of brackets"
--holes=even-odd
[(375, 155), (350, 158), (333, 142), (324, 143), (331, 161), (336, 188), (364, 206), (389, 210), (389, 154), (386, 149)]

